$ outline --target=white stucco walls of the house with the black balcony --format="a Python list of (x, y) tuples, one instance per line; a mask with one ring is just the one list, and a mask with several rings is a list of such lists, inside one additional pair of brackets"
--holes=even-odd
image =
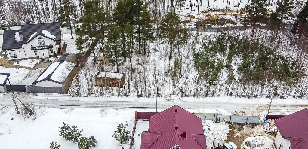
[[(9, 50), (6, 50), (9, 60), (20, 59), (20, 58), (32, 58), (32, 57), (43, 58), (43, 52), (44, 52), (44, 55), (45, 55), (46, 58), (48, 58), (49, 55), (53, 55), (53, 52), (50, 52), (49, 49), (37, 50), (38, 54), (34, 54), (34, 50), (31, 50), (31, 46), (39, 46), (38, 41), (43, 40), (43, 39), (39, 39), (40, 37), (42, 37), (44, 39), (45, 45), (52, 44), (53, 45), (52, 50), (55, 51), (56, 54), (58, 54), (58, 47), (59, 46), (55, 46), (55, 41), (39, 35), (39, 36), (35, 37), (34, 39), (32, 39), (27, 44), (22, 45), (21, 49), (15, 49), (17, 58), (10, 58)], [(29, 39), (24, 39), (24, 40), (28, 41)], [(58, 41), (56, 41), (56, 42), (58, 42)]]

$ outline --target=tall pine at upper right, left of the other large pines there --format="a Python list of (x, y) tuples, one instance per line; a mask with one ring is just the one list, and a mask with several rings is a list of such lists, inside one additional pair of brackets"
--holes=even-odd
[(250, 40), (253, 39), (256, 23), (265, 20), (267, 6), (269, 6), (267, 0), (251, 0), (250, 5), (246, 6), (247, 18), (244, 21), (253, 25)]

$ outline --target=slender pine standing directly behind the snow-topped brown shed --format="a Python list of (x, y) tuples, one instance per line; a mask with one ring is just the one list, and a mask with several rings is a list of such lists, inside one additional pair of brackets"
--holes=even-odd
[(117, 72), (119, 72), (118, 57), (121, 53), (121, 37), (120, 28), (115, 24), (111, 26), (109, 33), (107, 34), (106, 52), (110, 58), (110, 62), (116, 65)]

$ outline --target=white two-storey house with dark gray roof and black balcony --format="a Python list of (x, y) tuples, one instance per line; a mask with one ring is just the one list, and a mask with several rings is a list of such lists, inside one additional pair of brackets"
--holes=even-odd
[(41, 63), (49, 62), (54, 51), (62, 54), (62, 47), (60, 22), (14, 25), (3, 32), (2, 50), (9, 61), (40, 59)]

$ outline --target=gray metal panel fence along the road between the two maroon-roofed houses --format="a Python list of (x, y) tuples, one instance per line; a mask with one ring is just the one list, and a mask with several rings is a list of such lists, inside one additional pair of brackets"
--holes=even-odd
[(212, 120), (213, 122), (227, 123), (262, 123), (264, 117), (261, 116), (246, 116), (246, 115), (222, 115), (218, 113), (194, 113), (202, 120)]

